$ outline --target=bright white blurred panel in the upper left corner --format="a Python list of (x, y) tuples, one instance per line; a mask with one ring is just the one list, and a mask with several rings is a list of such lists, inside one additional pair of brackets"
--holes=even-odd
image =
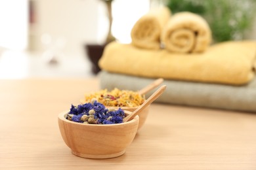
[(1, 48), (24, 50), (28, 45), (28, 0), (0, 0)]

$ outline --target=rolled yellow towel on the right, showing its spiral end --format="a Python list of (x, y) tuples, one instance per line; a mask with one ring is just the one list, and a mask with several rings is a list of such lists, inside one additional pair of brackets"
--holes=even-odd
[(211, 43), (211, 29), (198, 14), (178, 12), (163, 28), (161, 41), (170, 52), (203, 52)]

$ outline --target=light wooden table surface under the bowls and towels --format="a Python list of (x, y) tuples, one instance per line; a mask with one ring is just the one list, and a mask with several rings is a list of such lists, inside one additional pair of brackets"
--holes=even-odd
[(98, 80), (0, 80), (0, 169), (256, 169), (256, 114), (152, 104), (125, 154), (74, 156), (57, 116)]

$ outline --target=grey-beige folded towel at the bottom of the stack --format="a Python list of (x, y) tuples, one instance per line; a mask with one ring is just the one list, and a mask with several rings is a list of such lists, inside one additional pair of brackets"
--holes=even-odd
[[(102, 71), (99, 74), (100, 88), (137, 91), (155, 79), (128, 76)], [(207, 84), (164, 80), (165, 92), (156, 99), (158, 103), (169, 103), (215, 109), (243, 110), (256, 112), (256, 79), (245, 86)], [(148, 98), (152, 92), (146, 93)]]

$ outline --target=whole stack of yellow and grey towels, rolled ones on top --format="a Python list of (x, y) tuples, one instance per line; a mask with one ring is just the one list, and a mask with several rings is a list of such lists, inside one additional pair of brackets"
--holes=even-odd
[(140, 90), (164, 78), (167, 89), (157, 102), (256, 112), (256, 41), (211, 44), (201, 16), (167, 8), (142, 16), (131, 38), (104, 49), (100, 88)]

